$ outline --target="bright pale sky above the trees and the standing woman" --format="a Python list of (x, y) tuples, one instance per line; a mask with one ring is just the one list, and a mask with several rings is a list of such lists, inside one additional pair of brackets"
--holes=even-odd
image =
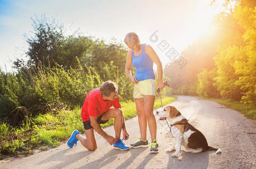
[[(167, 50), (173, 48), (180, 53), (210, 30), (213, 16), (223, 10), (208, 7), (211, 1), (0, 0), (0, 68), (13, 71), (12, 61), (24, 57), (27, 49), (24, 34), (31, 34), (31, 17), (40, 18), (44, 13), (64, 23), (67, 35), (81, 33), (123, 43), (127, 33), (135, 32), (141, 43), (154, 48), (164, 66), (170, 62)], [(156, 42), (150, 38), (153, 33)], [(163, 40), (166, 50), (158, 47)]]

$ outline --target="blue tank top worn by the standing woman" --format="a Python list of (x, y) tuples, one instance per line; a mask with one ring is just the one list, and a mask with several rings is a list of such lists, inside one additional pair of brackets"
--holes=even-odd
[(145, 45), (143, 44), (142, 52), (140, 55), (135, 56), (132, 52), (133, 67), (136, 68), (135, 78), (138, 81), (144, 81), (146, 79), (156, 79), (153, 71), (153, 61), (149, 58), (149, 55), (145, 53)]

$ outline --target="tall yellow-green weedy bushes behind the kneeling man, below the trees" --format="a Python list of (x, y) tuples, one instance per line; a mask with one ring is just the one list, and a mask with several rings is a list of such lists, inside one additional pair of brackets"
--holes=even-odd
[(86, 94), (101, 83), (94, 68), (86, 66), (69, 72), (61, 66), (0, 71), (0, 118), (17, 126), (28, 116), (81, 106)]

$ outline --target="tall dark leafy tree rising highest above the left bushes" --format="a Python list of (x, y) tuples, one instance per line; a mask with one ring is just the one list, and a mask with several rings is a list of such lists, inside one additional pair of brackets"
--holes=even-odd
[(63, 24), (56, 21), (55, 18), (49, 20), (45, 14), (41, 15), (41, 19), (35, 15), (35, 19), (31, 18), (31, 20), (33, 22), (33, 35), (26, 40), (29, 45), (26, 52), (29, 57), (27, 65), (29, 67), (37, 66), (41, 62), (42, 66), (50, 66), (54, 65), (55, 62), (58, 63), (65, 39)]

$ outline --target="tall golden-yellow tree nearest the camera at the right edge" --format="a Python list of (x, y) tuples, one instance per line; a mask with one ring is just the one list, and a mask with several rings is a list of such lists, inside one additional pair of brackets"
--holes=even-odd
[[(256, 1), (241, 0), (233, 15), (219, 15), (223, 30), (214, 57), (218, 68), (215, 85), (222, 97), (255, 102), (255, 5)], [(246, 19), (245, 19), (246, 18)]]

